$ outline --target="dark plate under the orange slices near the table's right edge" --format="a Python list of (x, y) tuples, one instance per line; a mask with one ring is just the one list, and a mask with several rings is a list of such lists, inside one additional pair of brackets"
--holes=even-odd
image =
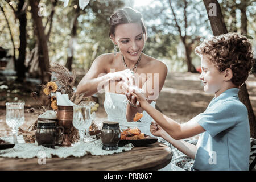
[(139, 146), (146, 146), (147, 144), (152, 144), (158, 141), (157, 138), (155, 137), (151, 137), (149, 135), (145, 134), (144, 139), (140, 139), (140, 140), (120, 140), (118, 143), (119, 147), (125, 146), (128, 143), (132, 143), (135, 147), (139, 147)]

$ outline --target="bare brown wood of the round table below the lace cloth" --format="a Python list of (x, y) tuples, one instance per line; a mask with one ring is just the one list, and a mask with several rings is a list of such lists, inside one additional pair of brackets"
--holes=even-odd
[(112, 155), (86, 155), (82, 158), (46, 158), (46, 164), (42, 164), (42, 161), (39, 162), (40, 159), (38, 158), (0, 158), (0, 170), (158, 170), (169, 164), (171, 159), (170, 147), (156, 142)]

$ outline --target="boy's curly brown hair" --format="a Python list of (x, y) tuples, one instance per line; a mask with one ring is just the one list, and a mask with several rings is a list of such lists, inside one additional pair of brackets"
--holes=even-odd
[(213, 36), (196, 47), (197, 55), (209, 55), (218, 72), (230, 68), (233, 72), (232, 82), (241, 86), (248, 78), (253, 66), (253, 50), (250, 41), (237, 33)]

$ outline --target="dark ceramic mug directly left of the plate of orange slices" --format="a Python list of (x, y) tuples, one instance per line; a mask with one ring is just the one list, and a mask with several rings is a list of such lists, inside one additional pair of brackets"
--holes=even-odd
[(103, 122), (101, 141), (103, 150), (117, 150), (121, 131), (118, 122)]

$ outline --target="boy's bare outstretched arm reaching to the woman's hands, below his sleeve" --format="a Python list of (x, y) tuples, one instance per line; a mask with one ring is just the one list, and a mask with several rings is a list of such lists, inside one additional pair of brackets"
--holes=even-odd
[(205, 129), (197, 122), (188, 121), (182, 125), (166, 115), (160, 113), (148, 102), (143, 102), (141, 107), (175, 140), (193, 137), (203, 133)]

